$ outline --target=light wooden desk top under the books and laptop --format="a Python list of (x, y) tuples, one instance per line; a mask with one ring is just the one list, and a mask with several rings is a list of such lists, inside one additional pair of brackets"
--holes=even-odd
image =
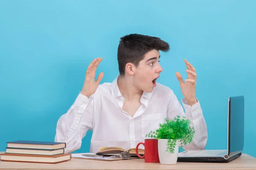
[(229, 163), (177, 162), (175, 165), (145, 163), (144, 159), (96, 161), (71, 159), (58, 164), (0, 161), (0, 170), (256, 170), (256, 158), (243, 154)]

